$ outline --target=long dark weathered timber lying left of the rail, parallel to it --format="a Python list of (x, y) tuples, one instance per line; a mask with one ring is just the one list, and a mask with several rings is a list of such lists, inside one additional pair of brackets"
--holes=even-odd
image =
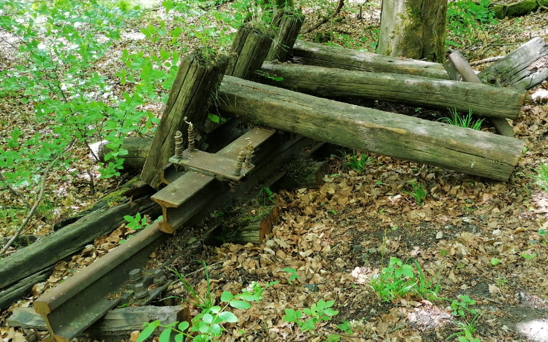
[(110, 209), (93, 211), (71, 225), (44, 236), (33, 245), (3, 258), (0, 263), (0, 289), (6, 289), (21, 279), (75, 254), (95, 238), (118, 228), (125, 222), (124, 216), (134, 216), (138, 212), (141, 215), (155, 217), (161, 215), (162, 211), (160, 206), (148, 197)]

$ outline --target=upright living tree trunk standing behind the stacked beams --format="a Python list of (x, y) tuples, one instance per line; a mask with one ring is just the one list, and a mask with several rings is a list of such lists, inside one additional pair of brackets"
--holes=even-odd
[(447, 0), (383, 0), (378, 53), (441, 63), (446, 21)]

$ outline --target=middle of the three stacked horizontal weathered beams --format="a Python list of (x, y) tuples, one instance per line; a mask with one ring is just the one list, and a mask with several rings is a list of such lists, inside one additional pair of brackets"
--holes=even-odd
[(276, 82), (265, 77), (266, 82), (309, 95), (383, 99), (443, 111), (455, 107), (457, 111), (468, 113), (472, 110), (474, 114), (486, 117), (517, 117), (527, 95), (526, 91), (484, 84), (320, 66), (265, 62), (262, 70), (271, 77), (283, 77)]

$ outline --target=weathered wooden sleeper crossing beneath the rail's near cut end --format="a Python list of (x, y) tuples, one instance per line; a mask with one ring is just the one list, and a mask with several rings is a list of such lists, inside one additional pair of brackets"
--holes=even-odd
[[(127, 341), (131, 332), (143, 329), (145, 322), (159, 319), (161, 324), (168, 325), (185, 320), (185, 310), (188, 309), (181, 306), (120, 307), (107, 312), (102, 319), (93, 323), (80, 335), (98, 341)], [(6, 323), (9, 327), (48, 329), (44, 318), (37, 314), (32, 307), (16, 307)], [(159, 331), (163, 331), (163, 328)]]

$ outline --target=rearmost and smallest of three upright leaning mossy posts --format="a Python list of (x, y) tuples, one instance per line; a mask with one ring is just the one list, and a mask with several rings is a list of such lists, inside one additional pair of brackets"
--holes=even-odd
[(285, 12), (285, 15), (281, 15), (280, 19), (275, 21), (276, 35), (273, 39), (268, 55), (266, 55), (267, 61), (287, 61), (289, 55), (291, 55), (291, 49), (297, 40), (300, 29), (304, 23), (304, 15), (300, 12)]

